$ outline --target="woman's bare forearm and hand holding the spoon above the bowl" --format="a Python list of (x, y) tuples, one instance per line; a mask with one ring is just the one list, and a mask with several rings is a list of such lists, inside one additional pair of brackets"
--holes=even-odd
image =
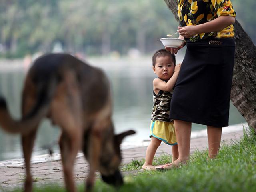
[(235, 22), (232, 16), (220, 16), (212, 21), (200, 24), (178, 27), (178, 32), (185, 38), (190, 38), (200, 33), (218, 32)]

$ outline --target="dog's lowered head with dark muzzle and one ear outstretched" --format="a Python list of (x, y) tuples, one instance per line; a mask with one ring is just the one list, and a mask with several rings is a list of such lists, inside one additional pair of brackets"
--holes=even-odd
[[(125, 136), (134, 134), (135, 131), (128, 130), (114, 136), (114, 146), (111, 143), (106, 143), (102, 156), (100, 158), (100, 168), (99, 171), (102, 176), (102, 180), (108, 184), (114, 186), (120, 186), (123, 184), (122, 175), (119, 171), (119, 166), (121, 163), (121, 151), (120, 144)], [(104, 155), (105, 154), (105, 155)]]

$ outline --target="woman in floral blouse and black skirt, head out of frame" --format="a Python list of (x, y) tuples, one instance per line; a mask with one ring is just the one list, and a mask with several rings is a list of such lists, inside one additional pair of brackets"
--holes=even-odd
[(191, 122), (207, 125), (209, 158), (220, 148), (222, 127), (228, 126), (234, 66), (236, 12), (230, 0), (178, 0), (179, 48), (187, 45), (170, 106), (178, 141), (179, 158), (162, 168), (189, 160)]

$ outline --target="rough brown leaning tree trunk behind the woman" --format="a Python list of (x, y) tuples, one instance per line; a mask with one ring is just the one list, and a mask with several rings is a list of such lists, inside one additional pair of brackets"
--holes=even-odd
[[(164, 0), (178, 21), (177, 0)], [(236, 20), (235, 64), (230, 99), (248, 125), (256, 131), (256, 47)]]

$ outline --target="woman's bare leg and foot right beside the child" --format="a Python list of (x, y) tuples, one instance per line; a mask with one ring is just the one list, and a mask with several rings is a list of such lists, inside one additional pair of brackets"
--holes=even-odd
[(179, 158), (172, 162), (170, 166), (164, 166), (167, 169), (171, 168), (171, 166), (179, 166), (180, 163), (186, 163), (190, 155), (191, 122), (174, 120), (174, 127), (178, 142)]

